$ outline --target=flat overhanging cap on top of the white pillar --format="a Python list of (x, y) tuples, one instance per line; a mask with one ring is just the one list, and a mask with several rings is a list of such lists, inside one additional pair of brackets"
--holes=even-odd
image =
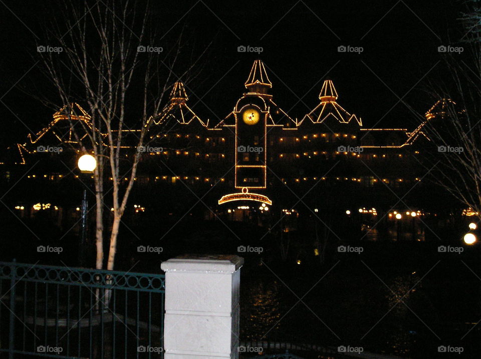
[(182, 254), (160, 264), (165, 272), (214, 272), (231, 274), (244, 264), (244, 258), (233, 254)]

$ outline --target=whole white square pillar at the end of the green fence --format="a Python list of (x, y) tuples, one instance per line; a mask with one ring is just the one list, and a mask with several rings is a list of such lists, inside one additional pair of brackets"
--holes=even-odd
[(165, 271), (165, 359), (237, 359), (240, 267), (237, 255), (182, 255)]

